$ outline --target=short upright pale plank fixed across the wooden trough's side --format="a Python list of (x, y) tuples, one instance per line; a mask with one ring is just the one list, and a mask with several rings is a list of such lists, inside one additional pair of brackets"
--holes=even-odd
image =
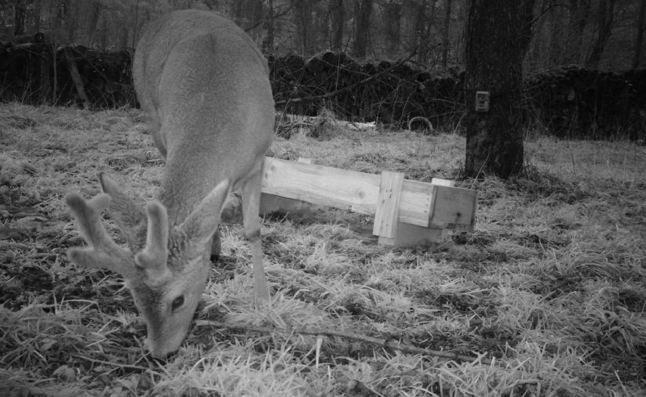
[(391, 244), (386, 239), (394, 239), (397, 234), (399, 216), (399, 199), (401, 198), (404, 174), (401, 172), (383, 171), (379, 186), (377, 210), (372, 234), (379, 236), (380, 244)]

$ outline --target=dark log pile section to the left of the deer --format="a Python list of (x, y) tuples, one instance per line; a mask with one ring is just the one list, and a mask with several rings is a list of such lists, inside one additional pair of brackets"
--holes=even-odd
[(134, 106), (131, 61), (128, 50), (56, 48), (43, 34), (36, 34), (30, 43), (0, 43), (0, 101), (92, 108)]

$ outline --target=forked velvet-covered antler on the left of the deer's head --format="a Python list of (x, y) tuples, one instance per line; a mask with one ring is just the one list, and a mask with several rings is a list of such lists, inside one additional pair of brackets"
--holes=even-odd
[(101, 223), (101, 211), (110, 205), (110, 196), (101, 193), (86, 201), (81, 195), (70, 193), (65, 197), (65, 203), (76, 218), (81, 236), (90, 245), (68, 250), (70, 259), (79, 265), (107, 267), (129, 276), (132, 271), (127, 264), (132, 254), (112, 241)]

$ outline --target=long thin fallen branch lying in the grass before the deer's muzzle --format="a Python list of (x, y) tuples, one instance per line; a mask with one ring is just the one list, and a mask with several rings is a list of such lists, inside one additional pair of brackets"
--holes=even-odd
[(341, 336), (342, 338), (361, 340), (368, 343), (372, 343), (373, 345), (388, 347), (389, 349), (395, 349), (402, 352), (426, 354), (428, 356), (437, 356), (437, 357), (449, 358), (451, 360), (459, 360), (459, 361), (474, 362), (475, 360), (480, 360), (481, 363), (485, 365), (492, 364), (492, 361), (486, 358), (481, 358), (481, 357), (474, 358), (474, 357), (462, 356), (460, 354), (441, 352), (437, 350), (422, 349), (421, 347), (406, 346), (396, 341), (387, 341), (384, 339), (372, 338), (371, 336), (355, 334), (353, 332), (333, 331), (329, 329), (307, 329), (305, 327), (293, 328), (293, 329), (275, 328), (275, 327), (258, 327), (255, 325), (227, 324), (227, 323), (221, 323), (220, 321), (211, 321), (211, 320), (197, 321), (197, 323), (198, 325), (209, 325), (212, 327), (225, 328), (225, 329), (242, 329), (245, 331), (263, 332), (265, 334), (274, 334), (278, 332), (280, 334), (289, 334), (289, 335), (304, 334), (304, 335)]

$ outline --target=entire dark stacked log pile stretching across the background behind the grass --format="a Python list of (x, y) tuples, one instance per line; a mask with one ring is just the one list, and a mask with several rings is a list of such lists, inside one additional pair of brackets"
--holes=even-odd
[[(42, 34), (30, 43), (0, 43), (0, 101), (87, 108), (136, 105), (132, 52), (54, 48)], [(460, 68), (424, 70), (410, 62), (353, 59), (331, 51), (269, 56), (268, 61), (276, 108), (292, 114), (316, 116), (326, 110), (348, 121), (399, 128), (411, 120), (452, 128), (464, 114)], [(523, 92), (527, 127), (563, 137), (646, 140), (646, 70), (561, 66), (526, 76)]]

